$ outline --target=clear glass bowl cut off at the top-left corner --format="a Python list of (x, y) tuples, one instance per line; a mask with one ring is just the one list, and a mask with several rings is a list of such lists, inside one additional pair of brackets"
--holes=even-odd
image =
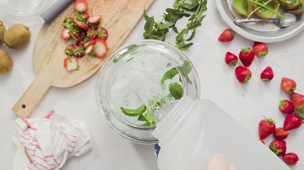
[(50, 0), (0, 0), (0, 12), (17, 19), (34, 18), (49, 6)]

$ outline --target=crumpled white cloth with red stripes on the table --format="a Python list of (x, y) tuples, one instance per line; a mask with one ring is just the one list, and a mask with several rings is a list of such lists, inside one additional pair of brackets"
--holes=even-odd
[(15, 124), (14, 170), (59, 170), (68, 158), (83, 155), (92, 148), (83, 122), (54, 111), (43, 118), (18, 118)]

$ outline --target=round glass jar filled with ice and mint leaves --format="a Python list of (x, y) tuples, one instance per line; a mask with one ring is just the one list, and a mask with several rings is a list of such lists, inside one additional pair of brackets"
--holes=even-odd
[(95, 94), (110, 128), (132, 142), (149, 144), (158, 142), (152, 132), (162, 118), (157, 111), (168, 109), (163, 103), (183, 95), (199, 99), (200, 82), (180, 50), (165, 42), (142, 40), (106, 59)]

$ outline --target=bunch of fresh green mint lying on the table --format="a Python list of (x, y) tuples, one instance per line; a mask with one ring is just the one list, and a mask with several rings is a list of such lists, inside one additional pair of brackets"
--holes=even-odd
[[(195, 36), (195, 28), (198, 28), (202, 25), (203, 12), (207, 10), (207, 0), (187, 0), (191, 3), (186, 3), (186, 0), (175, 0), (173, 8), (167, 8), (166, 13), (164, 13), (163, 18), (159, 22), (154, 21), (154, 16), (148, 16), (146, 11), (144, 11), (144, 18), (146, 20), (144, 29), (145, 32), (143, 36), (145, 39), (154, 39), (165, 41), (169, 29), (177, 34), (175, 37), (175, 46), (180, 50), (186, 50), (193, 42), (190, 42)], [(185, 12), (189, 11), (189, 12)], [(188, 23), (186, 28), (178, 30), (175, 27), (176, 22), (183, 18), (187, 17)], [(191, 32), (191, 35), (188, 38), (185, 38), (185, 34)]]

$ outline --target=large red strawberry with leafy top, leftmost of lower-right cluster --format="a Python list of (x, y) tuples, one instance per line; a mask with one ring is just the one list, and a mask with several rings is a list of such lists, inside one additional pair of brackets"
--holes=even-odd
[(265, 118), (259, 123), (259, 137), (265, 139), (275, 131), (275, 122), (271, 118)]

